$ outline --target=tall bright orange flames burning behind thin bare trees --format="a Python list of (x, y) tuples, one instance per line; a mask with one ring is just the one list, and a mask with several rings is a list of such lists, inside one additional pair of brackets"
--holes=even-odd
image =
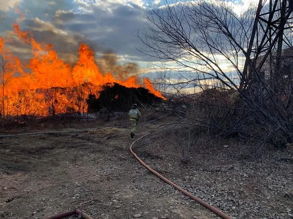
[[(99, 93), (106, 83), (143, 87), (137, 76), (125, 78), (119, 75), (117, 79), (112, 73), (104, 75), (95, 62), (94, 51), (84, 43), (80, 45), (79, 59), (72, 67), (58, 57), (53, 45), (37, 42), (32, 33), (21, 31), (18, 24), (13, 27), (16, 36), (31, 46), (32, 58), (21, 63), (0, 37), (2, 115), (86, 112), (88, 95)], [(146, 89), (165, 99), (147, 78), (144, 82)]]

